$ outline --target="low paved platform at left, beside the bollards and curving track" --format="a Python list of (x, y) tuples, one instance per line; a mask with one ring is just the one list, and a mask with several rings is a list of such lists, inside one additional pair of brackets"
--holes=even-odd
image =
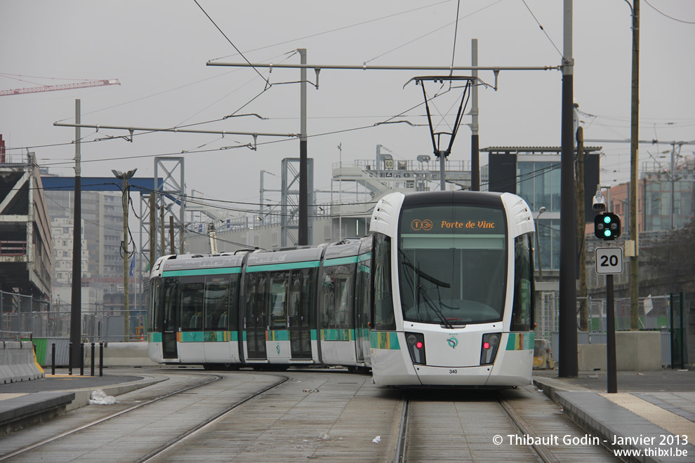
[(79, 376), (64, 372), (38, 380), (0, 384), (0, 436), (13, 429), (41, 422), (63, 412), (88, 405), (92, 391), (100, 389), (107, 396), (150, 386), (161, 379), (145, 375), (106, 374)]

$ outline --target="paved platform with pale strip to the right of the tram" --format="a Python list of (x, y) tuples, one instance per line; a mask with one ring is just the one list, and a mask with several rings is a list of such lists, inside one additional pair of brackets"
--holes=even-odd
[(534, 370), (533, 382), (626, 461), (695, 461), (695, 371), (621, 371), (615, 394), (605, 371), (559, 378), (557, 370)]

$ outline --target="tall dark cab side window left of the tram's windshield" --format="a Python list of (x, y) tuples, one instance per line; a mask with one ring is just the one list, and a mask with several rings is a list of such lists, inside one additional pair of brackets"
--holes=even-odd
[(388, 236), (376, 234), (373, 258), (373, 327), (380, 331), (395, 330), (391, 288), (391, 239)]

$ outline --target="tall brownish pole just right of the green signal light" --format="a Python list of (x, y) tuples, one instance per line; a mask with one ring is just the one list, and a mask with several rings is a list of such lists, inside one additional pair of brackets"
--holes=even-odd
[(630, 330), (639, 329), (640, 321), (640, 243), (637, 234), (637, 163), (640, 121), (640, 0), (633, 0), (633, 87), (630, 110), (630, 242), (625, 243), (630, 257)]

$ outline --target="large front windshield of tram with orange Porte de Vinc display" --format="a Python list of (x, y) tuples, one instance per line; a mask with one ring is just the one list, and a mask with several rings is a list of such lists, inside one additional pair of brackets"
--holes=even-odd
[(503, 210), (454, 204), (404, 208), (400, 232), (404, 320), (454, 328), (502, 319), (507, 274)]

